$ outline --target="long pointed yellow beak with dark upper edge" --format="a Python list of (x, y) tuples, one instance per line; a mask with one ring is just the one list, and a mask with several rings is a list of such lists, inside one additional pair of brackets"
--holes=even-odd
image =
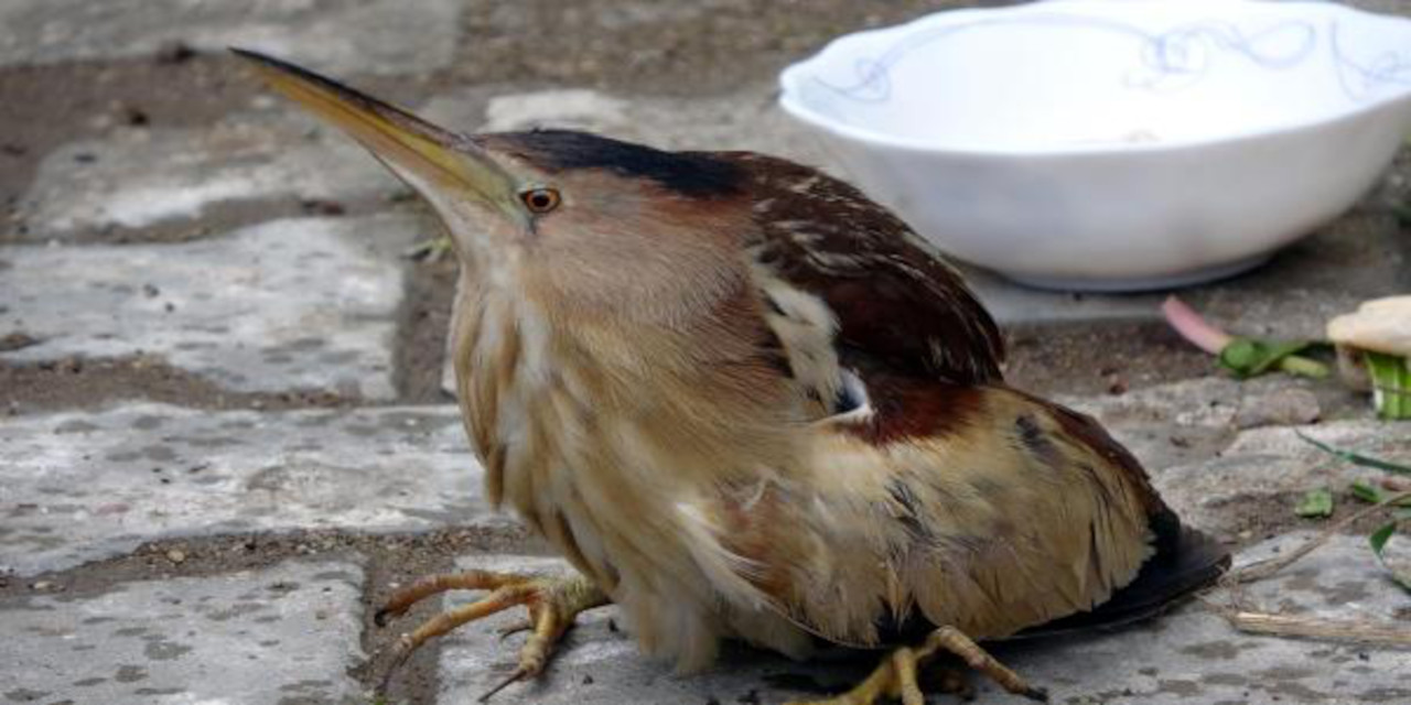
[(275, 90), (341, 128), (433, 202), (471, 197), (512, 220), (523, 219), (518, 179), (470, 140), (293, 63), (248, 49), (230, 51), (248, 59)]

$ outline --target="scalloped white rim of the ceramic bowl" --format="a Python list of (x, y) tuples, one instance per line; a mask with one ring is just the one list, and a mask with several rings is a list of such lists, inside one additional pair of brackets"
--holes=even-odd
[[(965, 147), (958, 144), (945, 144), (930, 140), (921, 140), (916, 137), (902, 137), (892, 133), (883, 133), (873, 128), (858, 127), (851, 124), (838, 123), (820, 114), (818, 111), (807, 107), (799, 97), (799, 85), (803, 82), (803, 73), (809, 69), (823, 55), (837, 51), (842, 44), (855, 42), (861, 37), (868, 35), (882, 35), (882, 34), (904, 34), (907, 31), (916, 30), (921, 25), (928, 25), (933, 23), (940, 23), (943, 20), (964, 20), (968, 17), (993, 17), (993, 16), (1012, 16), (1012, 14), (1027, 14), (1036, 10), (1044, 8), (1062, 8), (1062, 7), (1088, 7), (1101, 4), (1168, 4), (1175, 7), (1191, 7), (1197, 3), (1189, 0), (1038, 0), (1034, 3), (1024, 3), (1017, 6), (1006, 7), (972, 7), (972, 8), (957, 8), (957, 10), (941, 10), (935, 13), (923, 14), (914, 20), (899, 23), (888, 27), (878, 27), (871, 30), (861, 30), (855, 32), (848, 32), (840, 37), (834, 37), (821, 49), (809, 55), (804, 59), (796, 61), (786, 66), (779, 73), (779, 104), (790, 116), (809, 123), (820, 130), (832, 133), (835, 135), (849, 138), (868, 145), (888, 147), (896, 149), (910, 149), (921, 151), (937, 155), (955, 155), (955, 157), (1024, 157), (1024, 158), (1061, 158), (1061, 157), (1115, 157), (1125, 154), (1161, 154), (1171, 151), (1181, 151), (1199, 147), (1218, 147), (1230, 142), (1239, 142), (1246, 140), (1270, 138), (1278, 135), (1287, 135), (1291, 133), (1300, 133), (1305, 130), (1314, 130), (1321, 127), (1333, 125), (1352, 118), (1360, 118), (1370, 114), (1381, 113), (1397, 107), (1398, 104), (1411, 104), (1411, 86), (1403, 94), (1393, 94), (1386, 99), (1376, 102), (1369, 102), (1364, 106), (1355, 107), (1350, 110), (1339, 110), (1333, 114), (1315, 117), (1315, 118), (1301, 118), (1294, 120), (1280, 125), (1259, 127), (1259, 128), (1242, 128), (1233, 130), (1226, 134), (1205, 135), (1205, 137), (1185, 137), (1178, 140), (1164, 140), (1160, 142), (1089, 142), (1089, 144), (1055, 144), (1053, 147)], [(1384, 23), (1403, 24), (1408, 31), (1411, 31), (1411, 17), (1401, 17), (1383, 13), (1371, 13), (1357, 7), (1350, 7), (1339, 4), (1331, 0), (1206, 0), (1201, 4), (1230, 4), (1230, 6), (1267, 6), (1277, 7), (1280, 10), (1294, 10), (1295, 13), (1302, 8), (1316, 7), (1324, 11), (1340, 13), (1343, 16), (1355, 16), (1359, 18), (1370, 18)], [(1291, 13), (1294, 14), (1294, 13)], [(1411, 117), (1411, 111), (1408, 111)], [(1407, 127), (1411, 130), (1411, 125)]]

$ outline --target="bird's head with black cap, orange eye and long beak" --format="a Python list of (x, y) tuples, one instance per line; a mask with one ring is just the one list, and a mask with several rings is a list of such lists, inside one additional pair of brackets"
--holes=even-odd
[(264, 78), (363, 144), (446, 223), (484, 286), (559, 309), (673, 321), (727, 296), (749, 227), (744, 178), (707, 155), (591, 134), (460, 134), (260, 54)]

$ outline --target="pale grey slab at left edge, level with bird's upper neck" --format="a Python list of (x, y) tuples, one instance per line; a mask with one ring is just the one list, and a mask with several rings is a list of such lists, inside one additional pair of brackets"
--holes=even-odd
[(0, 360), (157, 354), (230, 389), (395, 396), (392, 338), (409, 217), (279, 220), (226, 237), (8, 247), (0, 330), (40, 340)]

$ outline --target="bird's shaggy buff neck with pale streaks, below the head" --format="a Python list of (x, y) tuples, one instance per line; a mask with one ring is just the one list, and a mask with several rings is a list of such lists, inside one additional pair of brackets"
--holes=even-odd
[[(718, 330), (729, 330), (720, 326)], [(789, 392), (752, 340), (566, 316), (463, 278), (457, 392), (495, 503), (546, 529), (564, 494), (645, 503), (786, 458)], [(735, 462), (732, 458), (741, 458)]]

